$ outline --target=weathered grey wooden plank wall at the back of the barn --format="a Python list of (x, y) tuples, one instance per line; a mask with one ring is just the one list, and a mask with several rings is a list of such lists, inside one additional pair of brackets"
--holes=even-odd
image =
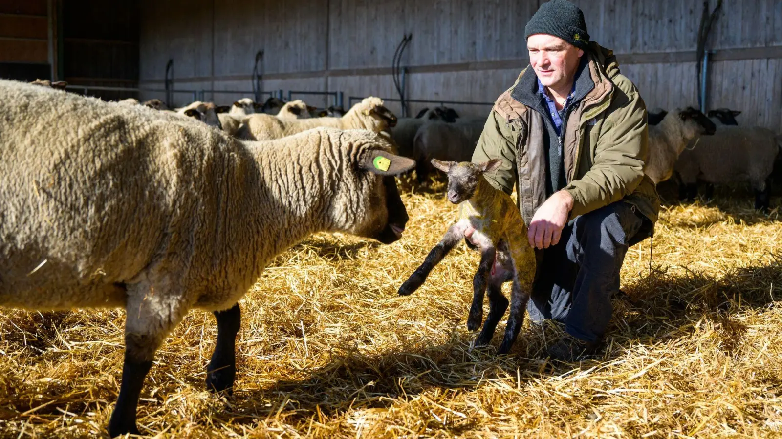
[[(575, 2), (592, 39), (614, 50), (648, 108), (697, 104), (694, 51), (701, 0)], [(493, 102), (527, 64), (524, 25), (539, 5), (539, 0), (145, 0), (140, 84), (163, 87), (166, 62), (174, 59), (175, 88), (249, 91), (256, 52), (263, 50), (264, 90), (336, 90), (346, 101), (350, 95), (396, 98), (391, 60), (400, 39), (412, 33), (403, 57), (411, 67), (408, 98)], [(709, 65), (709, 107), (740, 109), (742, 123), (780, 130), (782, 50), (771, 49), (782, 48), (782, 2), (723, 2), (708, 48), (718, 54)], [(741, 55), (742, 48), (761, 49)], [(204, 97), (229, 102), (239, 95)], [(185, 103), (191, 95), (177, 98)], [(468, 114), (489, 109), (455, 106)]]

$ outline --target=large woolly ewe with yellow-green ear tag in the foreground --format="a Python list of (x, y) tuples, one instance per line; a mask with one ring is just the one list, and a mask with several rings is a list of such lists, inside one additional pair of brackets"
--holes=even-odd
[(153, 355), (190, 309), (217, 317), (206, 384), (230, 392), (237, 301), (275, 255), (317, 231), (389, 244), (407, 223), (393, 175), (414, 162), (366, 130), (245, 142), (9, 80), (0, 113), (0, 306), (127, 310), (112, 437), (138, 433)]

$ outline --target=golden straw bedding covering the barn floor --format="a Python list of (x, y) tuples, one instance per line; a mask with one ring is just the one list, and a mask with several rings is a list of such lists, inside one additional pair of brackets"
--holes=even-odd
[[(782, 223), (747, 191), (665, 205), (651, 276), (648, 240), (626, 256), (604, 352), (565, 364), (544, 354), (556, 324), (525, 323), (508, 356), (494, 352), (504, 321), (492, 348), (471, 348), (479, 258), (464, 246), (396, 296), (455, 217), (442, 195), (405, 187), (401, 241), (319, 234), (266, 270), (241, 303), (233, 398), (203, 390), (216, 327), (192, 312), (146, 380), (142, 433), (782, 436)], [(123, 323), (119, 310), (0, 309), (0, 437), (106, 437)]]

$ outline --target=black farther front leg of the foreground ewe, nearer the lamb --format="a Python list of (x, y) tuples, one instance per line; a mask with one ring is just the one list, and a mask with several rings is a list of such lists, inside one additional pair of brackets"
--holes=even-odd
[(206, 388), (209, 391), (233, 393), (236, 376), (236, 334), (242, 326), (239, 304), (231, 309), (215, 311), (217, 319), (217, 344), (209, 366), (206, 366)]

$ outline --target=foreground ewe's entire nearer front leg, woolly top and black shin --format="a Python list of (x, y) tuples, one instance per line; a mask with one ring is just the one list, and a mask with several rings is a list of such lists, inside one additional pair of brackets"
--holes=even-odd
[(136, 408), (152, 359), (171, 329), (187, 312), (181, 298), (166, 287), (142, 282), (127, 287), (125, 359), (117, 405), (109, 419), (109, 436), (138, 434)]

